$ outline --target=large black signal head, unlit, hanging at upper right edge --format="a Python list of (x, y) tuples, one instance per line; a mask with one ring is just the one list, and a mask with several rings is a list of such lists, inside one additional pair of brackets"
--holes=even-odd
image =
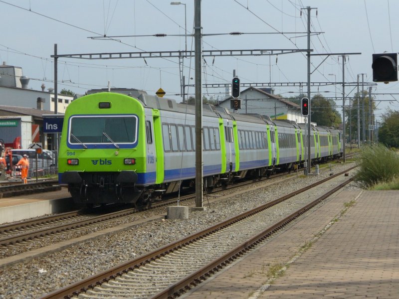
[(398, 54), (373, 54), (373, 81), (389, 83), (398, 81)]

